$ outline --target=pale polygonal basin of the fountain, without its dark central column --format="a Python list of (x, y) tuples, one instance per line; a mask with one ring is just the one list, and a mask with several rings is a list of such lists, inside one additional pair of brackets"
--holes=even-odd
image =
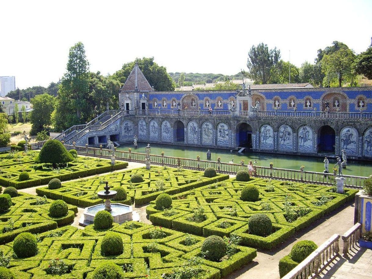
[[(110, 214), (113, 217), (115, 223), (124, 223), (126, 221), (131, 221), (133, 219), (133, 209), (132, 206), (125, 205), (122, 203), (111, 203)], [(81, 226), (86, 226), (93, 224), (94, 216), (96, 216), (98, 211), (105, 210), (105, 204), (101, 203), (98, 205), (93, 205), (85, 208), (83, 216), (81, 217), (79, 224)]]

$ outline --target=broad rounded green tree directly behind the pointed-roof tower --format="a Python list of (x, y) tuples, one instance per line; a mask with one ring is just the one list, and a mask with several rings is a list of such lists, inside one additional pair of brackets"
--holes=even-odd
[(136, 62), (144, 76), (147, 78), (148, 83), (150, 83), (151, 86), (154, 86), (155, 90), (174, 91), (175, 83), (167, 73), (166, 67), (159, 66), (155, 63), (154, 57), (143, 57), (142, 59), (136, 58), (135, 61), (124, 64), (121, 70), (112, 75), (113, 78), (124, 84)]

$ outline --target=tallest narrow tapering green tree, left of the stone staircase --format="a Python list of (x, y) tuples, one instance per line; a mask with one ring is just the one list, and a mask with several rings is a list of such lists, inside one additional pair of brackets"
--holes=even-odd
[(66, 128), (88, 119), (89, 62), (84, 45), (70, 48), (67, 72), (62, 77), (55, 112), (56, 128)]

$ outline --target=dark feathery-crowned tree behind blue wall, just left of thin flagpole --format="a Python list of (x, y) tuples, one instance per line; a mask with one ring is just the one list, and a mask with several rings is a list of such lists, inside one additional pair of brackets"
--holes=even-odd
[(270, 49), (266, 44), (252, 46), (248, 52), (247, 76), (255, 83), (266, 84), (272, 77), (275, 66), (280, 59), (280, 51), (276, 48)]

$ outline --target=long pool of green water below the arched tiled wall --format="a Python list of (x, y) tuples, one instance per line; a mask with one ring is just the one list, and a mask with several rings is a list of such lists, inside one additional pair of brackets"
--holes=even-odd
[[(145, 153), (145, 147), (147, 144), (138, 143), (138, 148), (135, 149), (132, 144), (124, 144), (117, 148), (117, 150), (128, 151), (128, 148), (132, 148), (132, 152)], [(196, 155), (200, 155), (201, 160), (206, 160), (206, 152), (208, 148), (194, 148), (194, 147), (182, 147), (173, 145), (160, 145), (151, 144), (151, 154), (160, 155), (161, 151), (164, 151), (165, 156), (182, 157), (196, 159)], [(239, 164), (240, 160), (244, 160), (247, 164), (249, 160), (253, 161), (254, 165), (268, 167), (270, 163), (274, 163), (274, 167), (283, 169), (294, 169), (299, 170), (301, 165), (305, 166), (307, 171), (323, 171), (324, 163), (323, 158), (310, 157), (310, 156), (293, 156), (293, 155), (276, 155), (269, 153), (246, 153), (240, 154), (237, 151), (230, 153), (228, 150), (211, 149), (211, 160), (217, 161), (218, 157), (221, 157), (221, 162), (230, 162), (234, 159), (234, 163)], [(257, 160), (257, 163), (254, 161)], [(329, 169), (332, 170), (336, 159), (328, 158)], [(365, 161), (351, 161), (347, 160), (347, 167), (343, 169), (343, 174), (356, 175), (356, 176), (369, 176), (372, 174), (372, 163)]]

